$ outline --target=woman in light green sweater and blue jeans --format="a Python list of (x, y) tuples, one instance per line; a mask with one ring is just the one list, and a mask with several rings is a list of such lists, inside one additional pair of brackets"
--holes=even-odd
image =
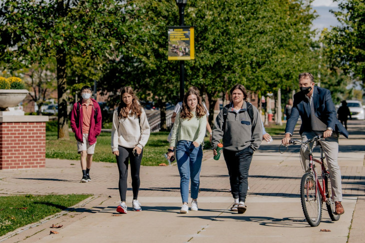
[[(191, 178), (191, 211), (197, 211), (199, 175), (203, 151), (201, 144), (205, 136), (206, 111), (198, 93), (189, 90), (183, 99), (182, 109), (176, 115), (172, 127), (171, 142), (167, 159), (173, 155), (176, 147), (177, 168), (180, 174), (180, 193), (182, 199), (181, 214), (188, 212), (189, 181)], [(177, 143), (176, 143), (177, 142)]]

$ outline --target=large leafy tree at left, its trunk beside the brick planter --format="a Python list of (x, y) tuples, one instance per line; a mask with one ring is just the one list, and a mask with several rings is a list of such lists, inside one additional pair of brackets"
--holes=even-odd
[(84, 58), (97, 71), (115, 50), (132, 51), (127, 26), (138, 9), (123, 0), (3, 0), (0, 9), (0, 58), (9, 68), (55, 58), (58, 138), (67, 139), (67, 58)]

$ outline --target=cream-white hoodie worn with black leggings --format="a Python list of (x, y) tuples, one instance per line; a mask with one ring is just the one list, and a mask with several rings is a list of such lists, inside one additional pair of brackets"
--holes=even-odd
[[(149, 125), (146, 114), (141, 108), (140, 119), (131, 116), (129, 111), (127, 118), (118, 118), (117, 109), (113, 113), (113, 124), (111, 127), (111, 151), (117, 151), (118, 145), (124, 148), (143, 148), (149, 138)], [(139, 121), (139, 123), (138, 123)]]

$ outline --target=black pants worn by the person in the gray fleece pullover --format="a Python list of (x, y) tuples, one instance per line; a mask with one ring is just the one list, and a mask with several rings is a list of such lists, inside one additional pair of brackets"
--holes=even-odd
[(253, 150), (247, 147), (241, 151), (223, 149), (227, 165), (231, 193), (234, 199), (245, 202), (248, 188), (248, 170), (252, 161)]

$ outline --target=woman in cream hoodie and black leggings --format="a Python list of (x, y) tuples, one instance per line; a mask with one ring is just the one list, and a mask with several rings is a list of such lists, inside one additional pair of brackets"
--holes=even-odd
[(121, 89), (120, 103), (113, 114), (111, 127), (111, 150), (116, 156), (119, 170), (119, 194), (121, 203), (116, 208), (120, 214), (127, 213), (125, 197), (127, 190), (128, 162), (132, 178), (134, 211), (141, 211), (137, 200), (139, 191), (139, 169), (143, 147), (149, 138), (149, 125), (146, 114), (138, 102), (131, 87)]

